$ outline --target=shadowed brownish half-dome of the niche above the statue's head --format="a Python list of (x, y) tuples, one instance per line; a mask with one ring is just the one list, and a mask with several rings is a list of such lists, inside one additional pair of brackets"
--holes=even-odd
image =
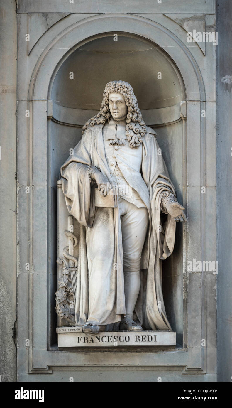
[(185, 98), (177, 69), (157, 44), (129, 33), (113, 38), (113, 33), (90, 38), (66, 58), (53, 81), (54, 102), (98, 111), (105, 84), (119, 78), (133, 84), (142, 111), (174, 106)]

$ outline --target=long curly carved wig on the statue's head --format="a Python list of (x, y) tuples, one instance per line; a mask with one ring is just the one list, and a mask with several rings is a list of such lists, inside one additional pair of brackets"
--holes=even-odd
[(93, 118), (89, 119), (84, 124), (82, 128), (82, 134), (88, 126), (95, 126), (95, 124), (104, 124), (106, 120), (110, 118), (110, 93), (121, 93), (124, 96), (126, 105), (128, 107), (128, 113), (126, 115), (125, 135), (130, 147), (139, 147), (143, 142), (143, 136), (146, 133), (146, 127), (141, 115), (141, 111), (139, 110), (133, 88), (128, 82), (124, 81), (110, 81), (108, 82), (108, 84), (106, 84), (103, 93), (103, 100), (101, 103), (101, 110), (97, 113), (97, 115), (93, 116)]

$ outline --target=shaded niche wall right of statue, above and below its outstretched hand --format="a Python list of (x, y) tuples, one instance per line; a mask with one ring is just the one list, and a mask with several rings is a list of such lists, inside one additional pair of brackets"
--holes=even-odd
[[(156, 127), (157, 142), (162, 149), (170, 179), (175, 186), (177, 200), (183, 204), (182, 122)], [(183, 346), (183, 224), (177, 223), (172, 255), (163, 261), (162, 289), (164, 305), (177, 343)]]

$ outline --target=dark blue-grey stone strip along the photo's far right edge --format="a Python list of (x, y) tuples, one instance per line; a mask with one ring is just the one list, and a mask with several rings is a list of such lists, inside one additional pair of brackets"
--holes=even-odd
[[(232, 361), (232, 55), (228, 53), (227, 44), (232, 43), (230, 29), (232, 2), (217, 2), (217, 30), (219, 46), (217, 47), (217, 259), (219, 273), (217, 276), (217, 354), (218, 379), (231, 381)], [(228, 76), (227, 76), (228, 75)], [(227, 78), (225, 78), (227, 76)], [(226, 248), (226, 249), (225, 249)], [(215, 296), (215, 293), (214, 293)]]

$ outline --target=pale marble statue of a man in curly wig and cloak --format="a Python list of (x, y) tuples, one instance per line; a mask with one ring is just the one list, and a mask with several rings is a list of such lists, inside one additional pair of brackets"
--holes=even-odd
[[(128, 82), (106, 84), (101, 109), (82, 133), (61, 167), (68, 211), (80, 223), (76, 324), (91, 334), (116, 323), (119, 330), (172, 330), (162, 259), (186, 216)], [(106, 196), (112, 186), (121, 187), (118, 206), (96, 207), (95, 188)]]

